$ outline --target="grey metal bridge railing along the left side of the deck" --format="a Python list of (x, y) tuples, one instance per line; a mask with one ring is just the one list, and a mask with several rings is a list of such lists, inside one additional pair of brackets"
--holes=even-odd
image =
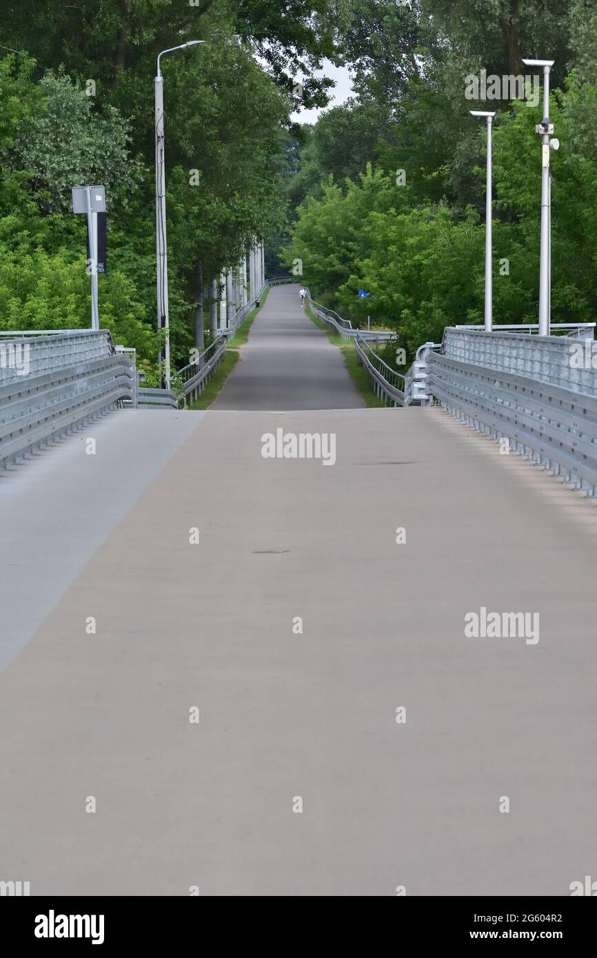
[(27, 349), (27, 372), (0, 369), (0, 467), (134, 401), (134, 357), (117, 353), (108, 331), (27, 331), (9, 344)]

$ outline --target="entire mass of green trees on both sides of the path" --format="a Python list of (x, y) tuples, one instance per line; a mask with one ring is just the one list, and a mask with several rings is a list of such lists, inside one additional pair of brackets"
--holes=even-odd
[[(550, 56), (554, 318), (597, 306), (597, 11), (592, 0), (20, 0), (0, 9), (0, 324), (89, 325), (85, 227), (70, 188), (103, 182), (102, 324), (154, 361), (153, 77), (164, 57), (174, 365), (203, 287), (268, 239), (353, 320), (394, 328), (409, 355), (483, 313), (485, 129), (495, 108), (494, 318), (537, 318), (540, 105), (471, 102), (466, 78)], [(354, 97), (327, 103), (323, 57)], [(301, 78), (301, 84), (297, 78)], [(289, 223), (289, 227), (288, 227)], [(357, 296), (364, 288), (370, 297)]]

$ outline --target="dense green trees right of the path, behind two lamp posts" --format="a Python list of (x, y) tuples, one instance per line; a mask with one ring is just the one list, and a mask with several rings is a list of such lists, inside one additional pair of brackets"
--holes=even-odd
[(295, 210), (281, 261), (353, 321), (370, 314), (396, 329), (409, 357), (448, 324), (482, 323), (486, 134), (469, 110), (494, 109), (494, 321), (537, 322), (542, 100), (471, 102), (465, 90), (483, 68), (501, 78), (524, 72), (522, 56), (554, 57), (552, 312), (593, 321), (592, 4), (355, 0), (355, 10), (344, 41), (355, 97), (309, 130), (287, 183)]

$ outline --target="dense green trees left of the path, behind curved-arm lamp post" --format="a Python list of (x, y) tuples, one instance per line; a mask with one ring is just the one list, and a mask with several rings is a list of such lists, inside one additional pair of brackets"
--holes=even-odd
[(20, 0), (0, 9), (0, 323), (5, 329), (89, 325), (85, 225), (71, 187), (103, 183), (108, 271), (103, 326), (154, 360), (153, 78), (161, 62), (172, 355), (187, 361), (201, 288), (254, 237), (285, 223), (280, 131), (302, 103), (324, 105), (313, 76), (337, 59), (346, 19), (299, 0)]

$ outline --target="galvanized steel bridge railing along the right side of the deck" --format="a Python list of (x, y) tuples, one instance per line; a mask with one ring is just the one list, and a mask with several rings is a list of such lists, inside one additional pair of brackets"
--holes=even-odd
[(453, 416), (592, 496), (595, 345), (554, 335), (468, 330), (463, 336), (462, 329), (447, 329), (442, 354), (429, 356), (427, 386)]

